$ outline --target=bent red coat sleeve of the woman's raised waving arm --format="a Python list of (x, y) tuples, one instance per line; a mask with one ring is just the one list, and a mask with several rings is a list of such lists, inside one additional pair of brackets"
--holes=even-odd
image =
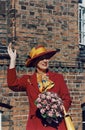
[(22, 76), (18, 78), (16, 75), (16, 69), (7, 70), (7, 84), (8, 87), (13, 91), (25, 91), (26, 90), (26, 81), (25, 77)]

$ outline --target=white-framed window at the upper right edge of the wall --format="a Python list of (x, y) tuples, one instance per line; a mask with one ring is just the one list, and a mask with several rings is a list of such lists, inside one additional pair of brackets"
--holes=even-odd
[(85, 45), (85, 0), (79, 0), (79, 44)]

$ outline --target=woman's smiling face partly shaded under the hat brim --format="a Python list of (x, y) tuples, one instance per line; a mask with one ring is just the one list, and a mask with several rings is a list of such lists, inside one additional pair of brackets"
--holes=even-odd
[(37, 69), (41, 71), (47, 70), (48, 66), (49, 66), (49, 59), (43, 59), (37, 63)]

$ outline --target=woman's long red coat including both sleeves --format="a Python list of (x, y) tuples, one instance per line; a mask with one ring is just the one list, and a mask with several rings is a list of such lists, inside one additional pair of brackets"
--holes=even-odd
[[(63, 76), (50, 71), (48, 71), (48, 76), (55, 83), (55, 86), (49, 91), (56, 92), (62, 98), (64, 106), (66, 110), (68, 110), (71, 105), (71, 98)], [(36, 117), (35, 113), (37, 108), (34, 101), (40, 93), (36, 73), (32, 75), (23, 75), (21, 78), (17, 78), (15, 68), (8, 69), (7, 82), (10, 89), (13, 91), (26, 91), (29, 98), (30, 111), (26, 130), (66, 130), (64, 121), (62, 121), (57, 128), (53, 128), (50, 126), (43, 126), (41, 120)]]

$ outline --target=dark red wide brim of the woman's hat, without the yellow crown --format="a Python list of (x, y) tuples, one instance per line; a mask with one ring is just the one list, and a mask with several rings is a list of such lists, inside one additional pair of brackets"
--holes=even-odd
[(26, 67), (35, 67), (36, 63), (42, 59), (50, 59), (53, 55), (55, 55), (57, 52), (59, 52), (60, 49), (56, 49), (53, 51), (47, 51), (39, 54), (38, 56), (35, 56), (32, 59), (27, 59), (25, 65)]

